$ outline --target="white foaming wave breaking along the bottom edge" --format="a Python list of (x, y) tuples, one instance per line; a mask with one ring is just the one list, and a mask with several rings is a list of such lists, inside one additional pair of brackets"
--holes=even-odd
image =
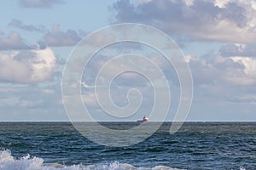
[(131, 164), (114, 161), (108, 165), (72, 165), (65, 166), (59, 163), (44, 163), (43, 158), (35, 156), (23, 156), (15, 159), (10, 150), (0, 151), (1, 170), (177, 170), (177, 168), (156, 166), (156, 167), (134, 167)]

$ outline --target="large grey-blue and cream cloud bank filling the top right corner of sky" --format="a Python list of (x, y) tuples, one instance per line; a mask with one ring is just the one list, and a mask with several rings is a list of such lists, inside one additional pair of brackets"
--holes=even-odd
[(256, 10), (251, 1), (150, 1), (114, 3), (116, 22), (140, 22), (171, 35), (197, 40), (255, 42)]

